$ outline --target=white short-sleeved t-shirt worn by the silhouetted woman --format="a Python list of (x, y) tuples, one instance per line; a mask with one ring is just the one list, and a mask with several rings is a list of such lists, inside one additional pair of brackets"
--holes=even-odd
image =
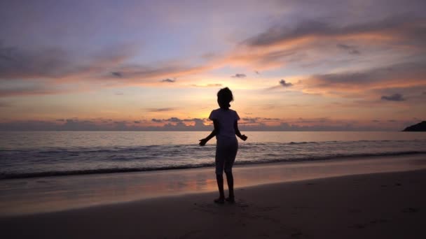
[(212, 110), (209, 119), (217, 119), (219, 123), (219, 133), (216, 135), (217, 139), (235, 138), (234, 123), (240, 119), (235, 110), (224, 110), (222, 108)]

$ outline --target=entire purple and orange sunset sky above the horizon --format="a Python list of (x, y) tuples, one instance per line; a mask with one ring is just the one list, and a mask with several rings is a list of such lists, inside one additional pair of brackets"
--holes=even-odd
[(426, 1), (1, 1), (0, 130), (398, 131), (426, 120)]

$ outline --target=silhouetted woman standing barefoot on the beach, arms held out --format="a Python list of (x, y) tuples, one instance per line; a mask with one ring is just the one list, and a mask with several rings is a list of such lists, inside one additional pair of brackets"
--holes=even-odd
[[(216, 180), (219, 188), (219, 198), (214, 199), (214, 203), (224, 203), (225, 200), (234, 203), (234, 179), (232, 175), (232, 166), (237, 156), (238, 136), (242, 140), (247, 140), (247, 136), (242, 135), (238, 130), (238, 116), (235, 110), (231, 110), (229, 104), (233, 101), (233, 94), (228, 87), (220, 89), (217, 92), (217, 103), (219, 109), (212, 110), (209, 119), (213, 120), (214, 130), (206, 138), (200, 140), (200, 145), (204, 146), (208, 140), (216, 136)], [(224, 171), (226, 173), (226, 181), (228, 181), (229, 196), (224, 195)]]

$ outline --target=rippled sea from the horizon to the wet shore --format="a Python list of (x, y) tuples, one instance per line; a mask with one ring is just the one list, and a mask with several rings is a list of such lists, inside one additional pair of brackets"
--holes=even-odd
[[(209, 132), (3, 131), (0, 180), (214, 166)], [(235, 164), (426, 154), (426, 132), (252, 131)]]

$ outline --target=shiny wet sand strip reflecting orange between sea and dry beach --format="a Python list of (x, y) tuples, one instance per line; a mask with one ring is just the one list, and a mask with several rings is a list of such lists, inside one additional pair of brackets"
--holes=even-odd
[[(424, 155), (239, 165), (235, 189), (343, 175), (426, 169)], [(83, 186), (82, 186), (83, 185)], [(213, 168), (0, 180), (1, 215), (90, 208), (217, 191)]]

